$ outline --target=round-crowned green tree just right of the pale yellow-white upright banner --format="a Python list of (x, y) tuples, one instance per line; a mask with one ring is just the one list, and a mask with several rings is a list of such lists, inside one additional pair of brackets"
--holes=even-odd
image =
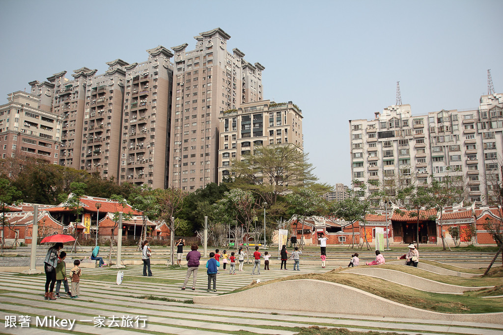
[[(304, 233), (304, 218), (311, 215), (325, 215), (328, 212), (328, 204), (321, 194), (310, 188), (304, 187), (296, 193), (285, 196), (286, 203), (290, 206), (288, 213), (297, 215), (297, 219), (302, 222), (302, 233)], [(304, 234), (302, 234), (303, 236)], [(302, 241), (301, 241), (302, 242)], [(304, 249), (301, 243), (302, 250)]]

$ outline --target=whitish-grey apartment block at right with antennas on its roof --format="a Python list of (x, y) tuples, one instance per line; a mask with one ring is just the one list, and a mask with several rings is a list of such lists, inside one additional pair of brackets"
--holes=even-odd
[[(501, 180), (503, 94), (483, 95), (478, 109), (440, 110), (412, 116), (410, 105), (392, 105), (373, 120), (350, 120), (351, 174), (379, 180), (394, 196), (395, 186), (461, 175), (466, 199), (487, 203), (491, 181)], [(356, 186), (356, 185), (355, 185)], [(358, 192), (359, 187), (355, 187)], [(361, 191), (361, 190), (360, 190)]]

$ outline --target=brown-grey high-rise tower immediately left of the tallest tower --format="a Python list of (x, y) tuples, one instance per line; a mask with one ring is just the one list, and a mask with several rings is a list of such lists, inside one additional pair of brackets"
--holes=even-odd
[(163, 46), (147, 50), (148, 60), (126, 68), (120, 149), (120, 182), (167, 187), (173, 53)]

